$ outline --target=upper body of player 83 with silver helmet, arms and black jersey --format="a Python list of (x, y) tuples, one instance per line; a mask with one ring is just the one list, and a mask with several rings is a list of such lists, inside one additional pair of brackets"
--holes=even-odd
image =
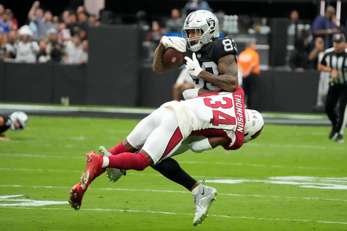
[[(206, 10), (194, 11), (186, 18), (182, 34), (184, 38), (162, 38), (154, 53), (153, 71), (164, 73), (171, 70), (163, 63), (163, 53), (165, 46), (172, 47), (186, 54), (179, 66), (187, 64), (186, 69), (195, 82), (196, 96), (209, 92), (205, 90), (236, 91), (237, 47), (232, 38), (218, 38), (220, 32), (217, 17)], [(198, 91), (201, 93), (198, 94)]]

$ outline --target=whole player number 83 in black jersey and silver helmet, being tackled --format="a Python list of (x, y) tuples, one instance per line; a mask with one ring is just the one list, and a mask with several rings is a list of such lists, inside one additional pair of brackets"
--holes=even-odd
[[(185, 52), (186, 57), (179, 66), (187, 64), (187, 72), (195, 83), (195, 89), (183, 92), (185, 99), (219, 90), (236, 91), (238, 89), (235, 58), (237, 47), (234, 39), (229, 37), (219, 39), (219, 34), (218, 19), (214, 14), (207, 10), (192, 12), (184, 22), (183, 38), (164, 36), (161, 39), (154, 53), (153, 71), (164, 73), (171, 70), (163, 63), (163, 53), (165, 46), (172, 47)], [(201, 224), (213, 202), (207, 199), (208, 193), (201, 195), (205, 186), (189, 176), (172, 158), (151, 167), (192, 192), (196, 204), (193, 224)]]

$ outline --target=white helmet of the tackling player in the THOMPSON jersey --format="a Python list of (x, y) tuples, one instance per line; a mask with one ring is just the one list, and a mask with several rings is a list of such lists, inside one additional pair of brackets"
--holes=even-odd
[(247, 143), (258, 137), (264, 127), (264, 119), (256, 110), (245, 109), (245, 120), (245, 137), (243, 143)]

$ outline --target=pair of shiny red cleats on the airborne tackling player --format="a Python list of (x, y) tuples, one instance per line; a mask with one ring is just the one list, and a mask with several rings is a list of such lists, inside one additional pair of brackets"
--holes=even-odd
[(86, 156), (87, 167), (82, 174), (81, 182), (72, 187), (70, 190), (69, 204), (74, 208), (74, 210), (79, 210), (79, 208), (81, 208), (83, 195), (93, 179), (95, 171), (99, 167), (100, 158), (103, 157), (94, 151), (87, 153)]

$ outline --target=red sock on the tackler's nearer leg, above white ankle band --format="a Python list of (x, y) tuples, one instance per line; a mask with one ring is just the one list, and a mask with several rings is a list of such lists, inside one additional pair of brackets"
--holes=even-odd
[(134, 154), (131, 152), (125, 152), (118, 154), (116, 156), (109, 156), (108, 168), (118, 168), (118, 169), (134, 169), (137, 171), (142, 171), (150, 165), (147, 157), (141, 152)]

